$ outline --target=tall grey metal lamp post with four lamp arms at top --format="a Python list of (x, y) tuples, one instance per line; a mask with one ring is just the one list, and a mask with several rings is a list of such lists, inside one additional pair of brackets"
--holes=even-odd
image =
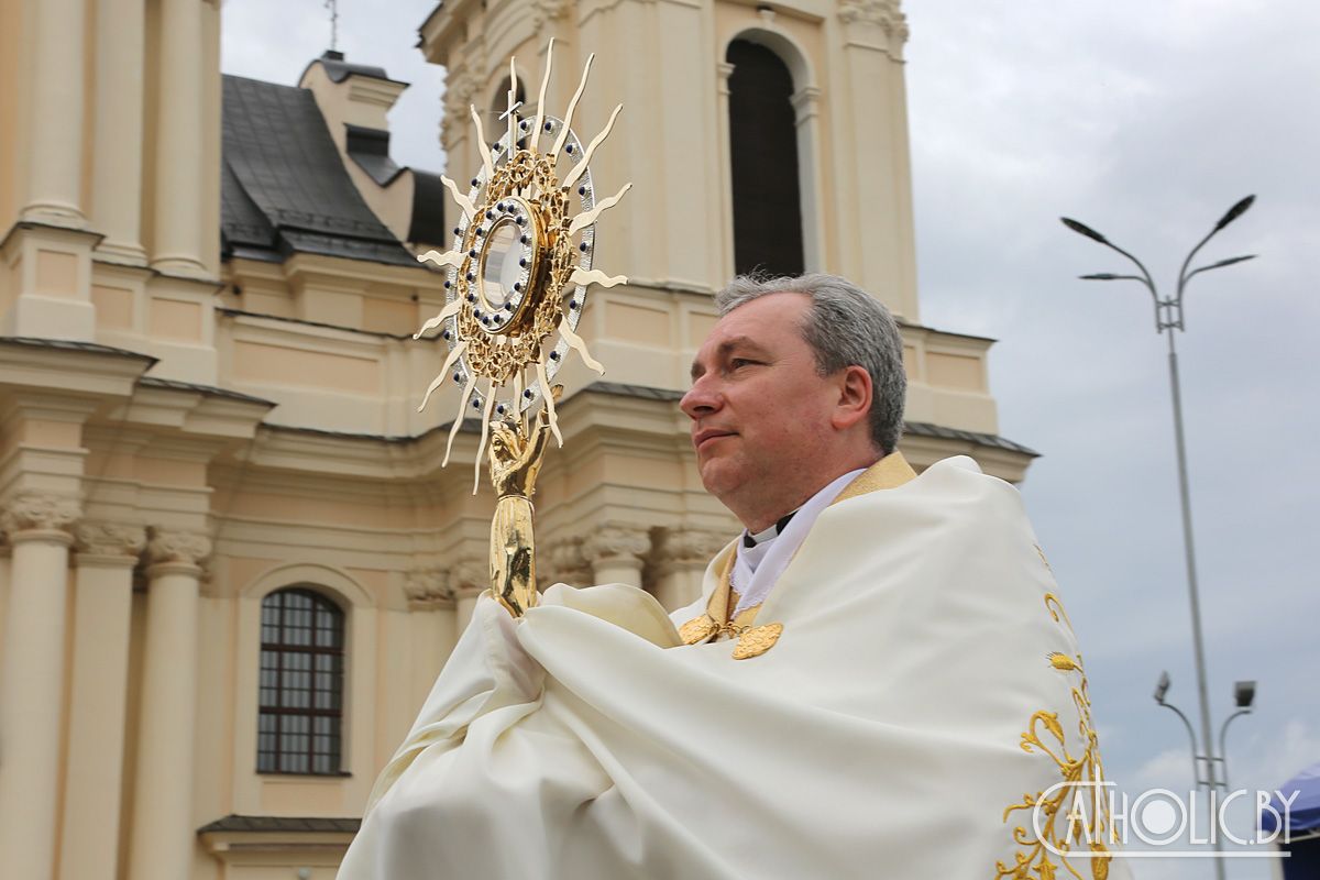
[[(1196, 586), (1196, 551), (1192, 541), (1192, 500), (1187, 479), (1187, 445), (1183, 435), (1183, 392), (1177, 375), (1177, 347), (1175, 346), (1173, 342), (1173, 331), (1175, 330), (1185, 331), (1185, 325), (1183, 322), (1183, 293), (1187, 289), (1188, 281), (1191, 281), (1195, 276), (1203, 272), (1209, 272), (1210, 269), (1222, 269), (1224, 267), (1229, 267), (1236, 263), (1242, 263), (1245, 260), (1251, 260), (1255, 257), (1254, 253), (1247, 256), (1229, 257), (1226, 260), (1218, 260), (1216, 263), (1210, 263), (1188, 272), (1188, 268), (1192, 265), (1192, 259), (1203, 247), (1205, 247), (1205, 243), (1209, 241), (1212, 237), (1214, 237), (1214, 235), (1218, 234), (1220, 230), (1222, 230), (1229, 223), (1242, 216), (1242, 214), (1246, 212), (1249, 207), (1251, 207), (1251, 203), (1254, 201), (1255, 201), (1254, 195), (1247, 195), (1246, 198), (1239, 199), (1236, 204), (1233, 204), (1233, 207), (1230, 207), (1224, 214), (1224, 216), (1220, 218), (1218, 223), (1214, 224), (1214, 228), (1210, 230), (1209, 234), (1206, 234), (1206, 236), (1201, 239), (1195, 248), (1192, 248), (1192, 251), (1187, 255), (1187, 259), (1183, 260), (1183, 268), (1179, 270), (1177, 274), (1176, 293), (1172, 297), (1163, 297), (1163, 298), (1160, 297), (1159, 290), (1155, 288), (1155, 281), (1154, 278), (1151, 278), (1151, 273), (1146, 269), (1146, 267), (1142, 264), (1140, 260), (1138, 260), (1131, 253), (1122, 249), (1121, 247), (1118, 247), (1117, 244), (1106, 239), (1104, 235), (1090, 228), (1089, 226), (1078, 223), (1077, 220), (1073, 220), (1067, 216), (1059, 218), (1060, 220), (1063, 220), (1063, 224), (1067, 226), (1073, 232), (1084, 235), (1088, 239), (1104, 244), (1106, 248), (1117, 251), (1118, 253), (1123, 255), (1137, 267), (1138, 272), (1140, 272), (1140, 274), (1114, 274), (1109, 272), (1101, 272), (1096, 274), (1084, 274), (1081, 276), (1082, 280), (1140, 282), (1142, 285), (1146, 286), (1147, 290), (1150, 290), (1151, 299), (1154, 301), (1155, 305), (1155, 332), (1164, 332), (1166, 330), (1168, 331), (1168, 381), (1173, 400), (1173, 439), (1177, 450), (1177, 483), (1179, 483), (1179, 495), (1183, 505), (1183, 549), (1187, 559), (1187, 591), (1192, 604), (1192, 645), (1196, 654), (1196, 689), (1200, 697), (1200, 710), (1201, 710), (1200, 711), (1201, 743), (1204, 743), (1205, 745), (1205, 755), (1204, 755), (1205, 785), (1212, 796), (1210, 800), (1213, 800), (1213, 792), (1218, 785), (1216, 780), (1217, 759), (1214, 755), (1214, 740), (1210, 739), (1210, 730), (1212, 730), (1210, 706), (1205, 685), (1205, 645), (1201, 635), (1201, 600)], [(1163, 699), (1163, 693), (1167, 690), (1168, 690), (1168, 676), (1166, 674), (1160, 678), (1160, 689), (1156, 689), (1155, 694), (1156, 701), (1162, 706), (1166, 706)], [(1173, 708), (1172, 706), (1168, 707)], [(1173, 711), (1177, 710), (1173, 708)], [(1183, 718), (1184, 722), (1187, 722), (1188, 732), (1191, 734), (1192, 732), (1191, 722), (1188, 722), (1187, 716), (1183, 715), (1183, 712), (1179, 711), (1177, 714)], [(1225, 722), (1225, 727), (1226, 724), (1228, 723)], [(1193, 734), (1192, 736), (1193, 767), (1196, 767), (1197, 761), (1201, 757), (1203, 756), (1200, 755), (1200, 749), (1196, 748), (1196, 736)], [(1201, 774), (1196, 773), (1193, 778), (1196, 778), (1197, 782), (1200, 784)], [(1213, 815), (1214, 810), (1212, 806), (1212, 821)], [(1221, 848), (1220, 835), (1216, 833), (1212, 834), (1212, 836), (1214, 838), (1216, 850), (1220, 850)], [(1218, 877), (1222, 879), (1224, 876), (1222, 859), (1216, 859), (1216, 873)]]

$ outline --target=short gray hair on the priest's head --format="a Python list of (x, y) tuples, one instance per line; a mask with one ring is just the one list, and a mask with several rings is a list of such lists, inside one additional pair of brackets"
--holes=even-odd
[(801, 293), (812, 299), (803, 321), (803, 340), (816, 355), (821, 376), (861, 367), (871, 376), (869, 424), (871, 443), (883, 455), (892, 453), (903, 434), (903, 338), (884, 305), (836, 274), (764, 277), (738, 276), (715, 294), (721, 315), (771, 293)]

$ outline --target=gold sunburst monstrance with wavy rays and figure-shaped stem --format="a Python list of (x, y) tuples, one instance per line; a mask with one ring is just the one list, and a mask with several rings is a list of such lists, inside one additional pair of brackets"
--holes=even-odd
[[(537, 598), (531, 496), (541, 455), (549, 434), (564, 445), (554, 413), (560, 387), (550, 383), (570, 350), (595, 372), (605, 372), (577, 335), (577, 325), (587, 285), (612, 288), (627, 281), (593, 269), (591, 263), (597, 218), (632, 185), (597, 201), (589, 169), (623, 104), (583, 148), (572, 128), (573, 111), (595, 55), (587, 57), (582, 80), (558, 119), (545, 113), (553, 49), (552, 40), (531, 119), (519, 116), (517, 71), (510, 59), (508, 103), (500, 116), (507, 127), (494, 146), (487, 148), (480, 116), (471, 107), (482, 166), (466, 195), (454, 181), (441, 178), (461, 211), (454, 247), (417, 257), (447, 268), (447, 277), (445, 307), (413, 338), (438, 327), (449, 343), (449, 356), (417, 410), (441, 385), (459, 387), (441, 467), (449, 464), (463, 417), (480, 418), (473, 492), (490, 441), (490, 475), (499, 499), (491, 521), (491, 590), (513, 616)], [(543, 139), (550, 144), (545, 150)]]

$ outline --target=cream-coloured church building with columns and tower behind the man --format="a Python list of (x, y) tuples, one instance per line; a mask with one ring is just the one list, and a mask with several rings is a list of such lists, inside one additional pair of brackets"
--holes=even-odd
[[(219, 0), (0, 5), (0, 873), (329, 880), (487, 579), (478, 426), (421, 394), (440, 168), (384, 58), (223, 75)], [(664, 34), (664, 38), (657, 38)], [(444, 0), (447, 174), (516, 57), (632, 191), (602, 218), (539, 482), (539, 574), (692, 602), (737, 521), (677, 400), (735, 273), (832, 272), (900, 319), (902, 450), (1023, 479), (991, 340), (921, 323), (898, 0)], [(447, 220), (446, 220), (447, 218)]]

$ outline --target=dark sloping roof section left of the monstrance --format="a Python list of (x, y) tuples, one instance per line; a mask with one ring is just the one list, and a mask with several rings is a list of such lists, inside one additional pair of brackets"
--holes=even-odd
[(220, 237), (226, 257), (322, 253), (417, 265), (372, 214), (305, 88), (226, 75)]

